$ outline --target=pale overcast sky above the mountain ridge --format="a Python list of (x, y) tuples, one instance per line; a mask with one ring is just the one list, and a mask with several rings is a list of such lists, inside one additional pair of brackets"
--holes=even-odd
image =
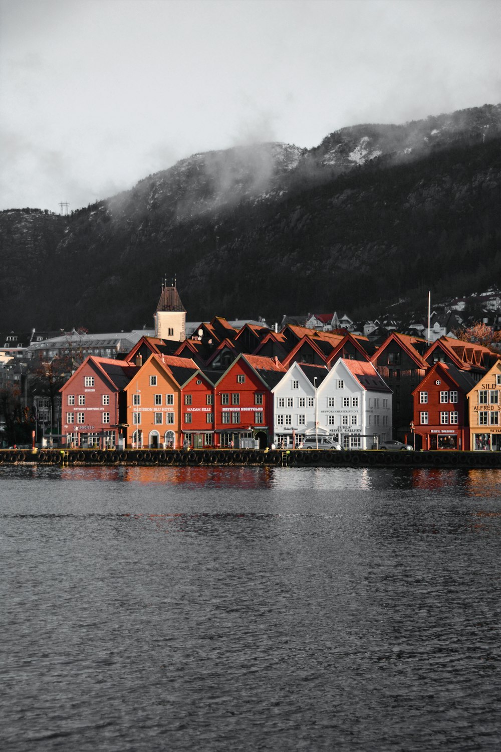
[(0, 210), (501, 102), (499, 0), (0, 0)]

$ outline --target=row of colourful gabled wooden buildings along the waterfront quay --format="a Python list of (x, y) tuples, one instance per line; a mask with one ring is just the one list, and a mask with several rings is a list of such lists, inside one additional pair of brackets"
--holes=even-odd
[(188, 339), (178, 324), (155, 327), (161, 336), (122, 359), (89, 356), (68, 379), (63, 442), (265, 447), (318, 434), (345, 448), (501, 447), (501, 365), (486, 347), (397, 332), (376, 347), (343, 329), (234, 329), (222, 317)]

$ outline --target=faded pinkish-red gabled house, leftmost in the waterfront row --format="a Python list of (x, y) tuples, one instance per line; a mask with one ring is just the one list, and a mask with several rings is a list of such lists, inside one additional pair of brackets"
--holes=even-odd
[(60, 390), (62, 444), (114, 447), (125, 443), (124, 390), (139, 369), (119, 360), (88, 356)]

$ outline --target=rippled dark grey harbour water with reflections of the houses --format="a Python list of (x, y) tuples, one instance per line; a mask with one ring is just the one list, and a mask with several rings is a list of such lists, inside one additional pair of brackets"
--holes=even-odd
[(0, 468), (2, 750), (494, 750), (499, 470)]

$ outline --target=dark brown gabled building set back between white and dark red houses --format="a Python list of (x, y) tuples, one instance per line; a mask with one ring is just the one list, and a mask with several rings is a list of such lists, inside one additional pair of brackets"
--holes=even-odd
[(422, 354), (426, 346), (422, 338), (391, 332), (370, 359), (391, 389), (394, 431), (391, 438), (398, 441), (408, 439), (415, 414), (413, 393), (430, 368)]

